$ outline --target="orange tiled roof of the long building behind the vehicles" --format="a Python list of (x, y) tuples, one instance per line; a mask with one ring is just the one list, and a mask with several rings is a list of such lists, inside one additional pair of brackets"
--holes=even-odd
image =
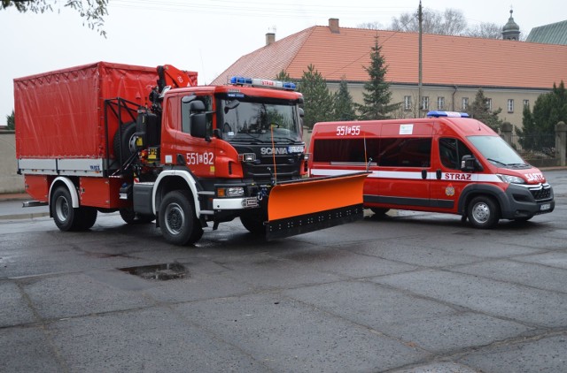
[[(366, 81), (374, 37), (382, 46), (392, 83), (417, 84), (418, 34), (341, 27), (309, 27), (240, 57), (213, 84), (227, 76), (274, 79), (285, 70), (299, 79), (315, 65), (326, 80)], [(567, 46), (423, 34), (423, 84), (472, 87), (543, 88), (567, 82)]]

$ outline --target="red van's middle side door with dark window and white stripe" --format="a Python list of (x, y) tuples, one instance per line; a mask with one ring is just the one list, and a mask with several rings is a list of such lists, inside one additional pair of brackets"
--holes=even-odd
[(382, 127), (377, 156), (380, 182), (374, 199), (387, 205), (381, 207), (429, 207), (432, 128), (431, 123)]

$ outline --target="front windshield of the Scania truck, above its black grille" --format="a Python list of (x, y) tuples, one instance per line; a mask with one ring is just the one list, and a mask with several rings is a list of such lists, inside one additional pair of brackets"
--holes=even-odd
[(249, 97), (221, 100), (222, 138), (229, 142), (301, 141), (295, 103), (254, 102)]

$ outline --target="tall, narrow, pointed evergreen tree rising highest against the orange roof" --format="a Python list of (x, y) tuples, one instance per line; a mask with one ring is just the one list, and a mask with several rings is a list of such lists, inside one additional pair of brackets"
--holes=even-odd
[(381, 53), (382, 47), (378, 45), (378, 37), (374, 39), (374, 46), (370, 53), (370, 65), (364, 66), (369, 73), (370, 80), (364, 84), (362, 97), (364, 103), (358, 105), (361, 119), (385, 119), (390, 118), (388, 113), (396, 110), (399, 103), (390, 104), (392, 92), (390, 84), (385, 81), (387, 66)]

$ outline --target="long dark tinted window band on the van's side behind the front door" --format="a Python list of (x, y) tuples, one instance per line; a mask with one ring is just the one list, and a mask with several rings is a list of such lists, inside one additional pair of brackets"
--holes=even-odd
[(429, 167), (431, 138), (317, 139), (314, 162), (384, 167)]

